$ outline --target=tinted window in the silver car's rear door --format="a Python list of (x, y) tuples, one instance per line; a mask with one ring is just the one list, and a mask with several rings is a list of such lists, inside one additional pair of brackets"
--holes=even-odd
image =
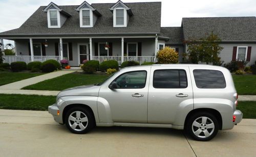
[(184, 70), (156, 70), (153, 86), (155, 88), (186, 88), (186, 72)]

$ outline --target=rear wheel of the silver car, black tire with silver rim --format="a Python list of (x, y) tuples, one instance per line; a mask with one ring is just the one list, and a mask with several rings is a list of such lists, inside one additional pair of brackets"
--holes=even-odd
[(218, 133), (219, 123), (210, 113), (196, 113), (188, 118), (185, 129), (191, 138), (197, 141), (209, 141)]

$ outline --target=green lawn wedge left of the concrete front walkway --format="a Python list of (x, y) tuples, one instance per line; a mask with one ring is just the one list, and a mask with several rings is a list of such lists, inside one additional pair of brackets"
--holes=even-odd
[(0, 85), (4, 85), (4, 84), (24, 80), (24, 79), (39, 76), (39, 75), (42, 75), (42, 74), (44, 74), (44, 73), (0, 72)]

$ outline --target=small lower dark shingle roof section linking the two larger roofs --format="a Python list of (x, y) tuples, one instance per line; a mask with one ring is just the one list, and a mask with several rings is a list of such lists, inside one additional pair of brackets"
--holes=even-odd
[(161, 27), (159, 37), (168, 37), (169, 40), (165, 41), (165, 43), (183, 43), (182, 27)]

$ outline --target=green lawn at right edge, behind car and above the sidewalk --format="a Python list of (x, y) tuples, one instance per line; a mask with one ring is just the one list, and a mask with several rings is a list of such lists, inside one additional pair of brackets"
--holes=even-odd
[(256, 75), (232, 75), (238, 95), (256, 95)]

